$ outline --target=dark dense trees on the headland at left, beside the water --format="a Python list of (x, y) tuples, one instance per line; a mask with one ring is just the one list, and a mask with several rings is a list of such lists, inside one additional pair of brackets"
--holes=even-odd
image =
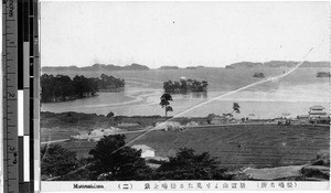
[(102, 75), (100, 78), (87, 78), (76, 75), (73, 79), (67, 75), (41, 76), (41, 101), (66, 101), (96, 96), (99, 89), (124, 87), (125, 81)]

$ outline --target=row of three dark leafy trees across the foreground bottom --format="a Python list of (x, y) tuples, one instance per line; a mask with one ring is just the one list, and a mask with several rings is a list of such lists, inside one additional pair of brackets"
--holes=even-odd
[[(45, 151), (46, 150), (46, 151)], [(42, 174), (58, 180), (227, 180), (226, 170), (207, 152), (180, 149), (169, 161), (152, 169), (141, 158), (141, 150), (127, 147), (124, 135), (105, 136), (89, 151), (92, 158), (79, 164), (73, 151), (50, 144), (42, 148)], [(56, 160), (56, 161), (55, 161)], [(58, 176), (60, 175), (60, 176)]]

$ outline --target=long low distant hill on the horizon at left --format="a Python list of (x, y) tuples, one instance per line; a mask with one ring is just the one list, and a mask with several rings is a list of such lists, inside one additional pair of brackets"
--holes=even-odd
[(92, 66), (85, 66), (85, 67), (77, 67), (77, 66), (45, 66), (42, 67), (43, 72), (84, 72), (84, 71), (149, 71), (150, 68), (132, 63), (131, 65), (127, 66), (116, 66), (113, 64), (94, 64)]

